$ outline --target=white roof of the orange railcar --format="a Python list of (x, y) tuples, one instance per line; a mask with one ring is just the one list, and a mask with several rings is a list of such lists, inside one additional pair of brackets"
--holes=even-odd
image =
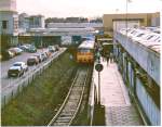
[(78, 49), (94, 49), (95, 41), (93, 40), (85, 40), (83, 41)]

